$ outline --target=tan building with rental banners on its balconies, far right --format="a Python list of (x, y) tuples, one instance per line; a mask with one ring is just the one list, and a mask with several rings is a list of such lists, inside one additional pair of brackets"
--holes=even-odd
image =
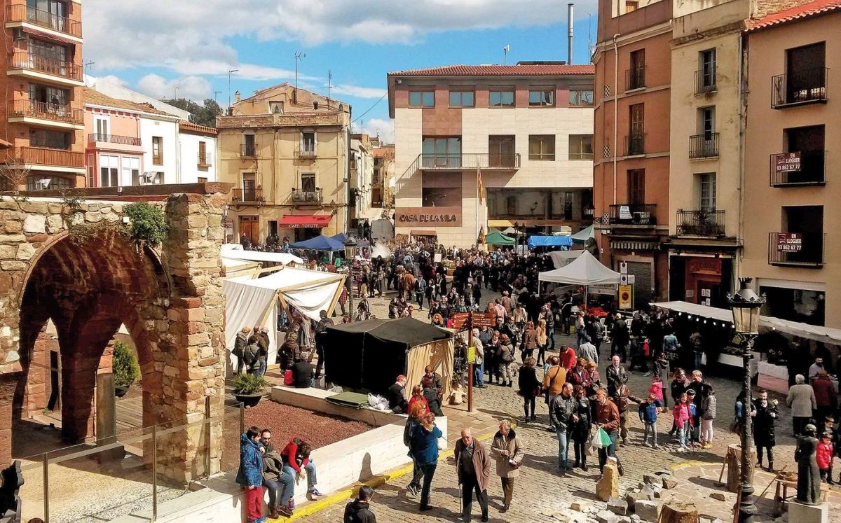
[[(742, 272), (763, 314), (841, 328), (841, 2), (748, 23)], [(834, 224), (834, 225), (833, 225)]]

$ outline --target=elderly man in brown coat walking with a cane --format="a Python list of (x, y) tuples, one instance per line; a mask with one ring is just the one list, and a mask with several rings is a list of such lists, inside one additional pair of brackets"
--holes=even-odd
[(473, 507), (473, 490), (482, 507), (482, 520), (488, 520), (488, 479), (490, 478), (490, 454), (488, 447), (473, 438), (470, 429), (462, 431), (452, 455), (456, 462), (458, 484), (462, 486), (462, 520), (470, 520)]

